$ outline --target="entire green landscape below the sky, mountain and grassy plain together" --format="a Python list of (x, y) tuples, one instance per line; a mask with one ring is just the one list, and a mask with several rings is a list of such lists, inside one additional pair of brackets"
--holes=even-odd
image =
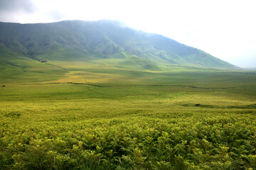
[(0, 30), (0, 169), (256, 169), (256, 72), (109, 21)]

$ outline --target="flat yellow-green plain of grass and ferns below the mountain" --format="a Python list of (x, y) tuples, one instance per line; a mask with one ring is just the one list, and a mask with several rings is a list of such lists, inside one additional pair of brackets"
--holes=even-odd
[(0, 169), (256, 169), (256, 72), (19, 63), (1, 67)]

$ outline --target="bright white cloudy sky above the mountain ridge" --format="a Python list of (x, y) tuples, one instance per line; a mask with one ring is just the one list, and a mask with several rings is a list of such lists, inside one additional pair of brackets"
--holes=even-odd
[(256, 68), (255, 0), (0, 0), (0, 21), (122, 21)]

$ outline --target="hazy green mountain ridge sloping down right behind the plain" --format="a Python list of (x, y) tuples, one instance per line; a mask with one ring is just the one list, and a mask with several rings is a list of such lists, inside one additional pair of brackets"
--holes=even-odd
[(177, 66), (238, 69), (202, 50), (117, 21), (0, 23), (0, 51), (2, 64), (14, 61), (8, 55), (13, 52), (20, 60), (41, 63), (77, 61), (154, 71)]

